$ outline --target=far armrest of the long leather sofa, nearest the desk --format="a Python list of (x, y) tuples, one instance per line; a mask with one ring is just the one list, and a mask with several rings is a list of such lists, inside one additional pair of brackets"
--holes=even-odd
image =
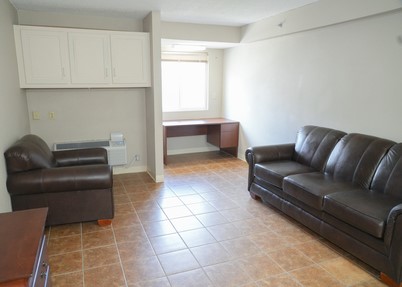
[(254, 179), (255, 164), (275, 160), (290, 160), (292, 159), (294, 149), (294, 143), (249, 147), (245, 155), (249, 166), (248, 190), (250, 190), (251, 183)]

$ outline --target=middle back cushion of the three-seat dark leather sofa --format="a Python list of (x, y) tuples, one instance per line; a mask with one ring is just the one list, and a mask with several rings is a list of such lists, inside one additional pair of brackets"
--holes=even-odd
[(374, 172), (388, 149), (395, 143), (363, 134), (348, 134), (332, 151), (325, 172), (335, 180), (369, 188)]

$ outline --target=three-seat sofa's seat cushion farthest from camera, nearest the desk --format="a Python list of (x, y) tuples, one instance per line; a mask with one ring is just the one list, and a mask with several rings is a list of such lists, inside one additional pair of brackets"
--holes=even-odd
[(258, 163), (254, 167), (254, 175), (273, 186), (282, 188), (283, 178), (290, 174), (313, 172), (311, 167), (296, 161), (272, 161)]

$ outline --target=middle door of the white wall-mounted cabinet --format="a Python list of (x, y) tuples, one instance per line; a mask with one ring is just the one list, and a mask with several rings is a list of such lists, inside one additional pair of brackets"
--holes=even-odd
[(69, 32), (71, 82), (108, 84), (112, 82), (109, 34)]

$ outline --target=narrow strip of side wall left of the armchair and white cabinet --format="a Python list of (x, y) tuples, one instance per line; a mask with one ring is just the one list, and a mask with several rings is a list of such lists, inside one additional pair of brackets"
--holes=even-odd
[(18, 82), (13, 24), (18, 24), (17, 12), (8, 1), (0, 1), (0, 212), (11, 211), (3, 153), (29, 132), (27, 102)]

